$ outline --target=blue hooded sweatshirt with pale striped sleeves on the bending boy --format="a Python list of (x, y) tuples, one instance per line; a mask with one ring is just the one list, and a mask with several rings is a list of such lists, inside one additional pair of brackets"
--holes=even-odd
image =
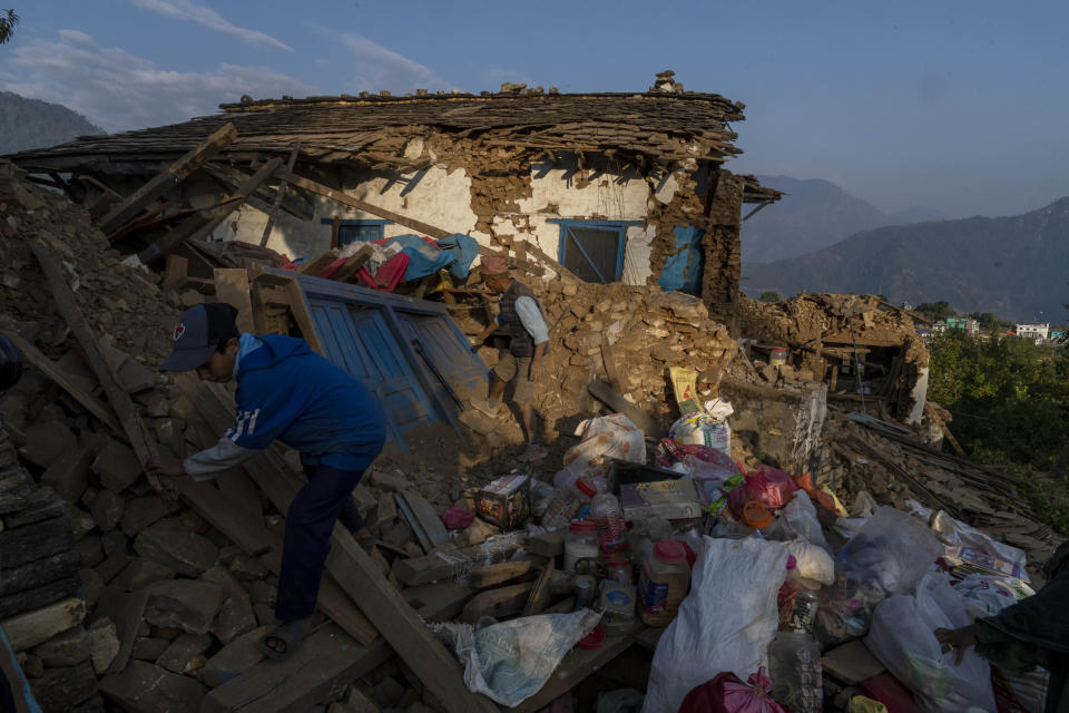
[(304, 340), (256, 339), (262, 345), (237, 363), (234, 426), (215, 448), (186, 459), (189, 475), (212, 477), (275, 440), (300, 451), (305, 465), (366, 469), (385, 440), (379, 398)]

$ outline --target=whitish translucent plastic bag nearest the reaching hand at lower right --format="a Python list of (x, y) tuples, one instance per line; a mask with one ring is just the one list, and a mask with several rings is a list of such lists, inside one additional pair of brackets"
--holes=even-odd
[(865, 646), (913, 692), (922, 711), (964, 713), (979, 706), (993, 712), (988, 663), (970, 648), (955, 666), (955, 653), (942, 653), (935, 638), (936, 628), (954, 629), (967, 624), (965, 608), (945, 576), (929, 573), (915, 596), (895, 595), (876, 607)]

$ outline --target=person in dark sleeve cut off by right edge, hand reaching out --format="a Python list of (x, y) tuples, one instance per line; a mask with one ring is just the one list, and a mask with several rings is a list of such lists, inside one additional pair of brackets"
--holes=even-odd
[(960, 664), (970, 646), (991, 663), (1013, 673), (1037, 666), (1047, 670), (1045, 713), (1069, 712), (1069, 541), (1062, 543), (1043, 566), (1047, 584), (996, 616), (955, 629), (940, 628), (935, 637), (944, 653)]

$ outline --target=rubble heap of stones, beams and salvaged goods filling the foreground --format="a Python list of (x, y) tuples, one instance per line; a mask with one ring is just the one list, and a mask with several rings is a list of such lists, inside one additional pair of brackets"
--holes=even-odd
[[(884, 416), (879, 400), (827, 406), (817, 372), (838, 352), (798, 361), (852, 326), (859, 345), (909, 352), (909, 315), (824, 295), (804, 333), (775, 315), (762, 332), (754, 311), (743, 348), (688, 295), (532, 280), (557, 448), (519, 467), (504, 413), (464, 411), (464, 442), (443, 423), (406, 431), (353, 496), (374, 553), (335, 535), (317, 627), (279, 663), (256, 642), (275, 623), (296, 453), (216, 482), (141, 463), (208, 447), (232, 419), (225, 389), (154, 371), (178, 307), (243, 297), (315, 341), (298, 283), (242, 265), (165, 296), (7, 164), (0, 251), (0, 329), (26, 363), (0, 398), (0, 628), (21, 668), (3, 663), (45, 711), (657, 712), (737, 695), (794, 713), (1037, 710), (1034, 675), (971, 652), (955, 666), (932, 629), (1038, 588), (1053, 534), (930, 429), (863, 412)], [(481, 331), (489, 295), (435, 294)], [(910, 361), (880, 356), (863, 392)]]

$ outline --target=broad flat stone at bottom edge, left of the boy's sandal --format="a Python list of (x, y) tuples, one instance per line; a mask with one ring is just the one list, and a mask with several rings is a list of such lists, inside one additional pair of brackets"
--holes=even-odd
[(127, 713), (189, 713), (200, 707), (206, 688), (144, 661), (100, 680), (100, 692)]

